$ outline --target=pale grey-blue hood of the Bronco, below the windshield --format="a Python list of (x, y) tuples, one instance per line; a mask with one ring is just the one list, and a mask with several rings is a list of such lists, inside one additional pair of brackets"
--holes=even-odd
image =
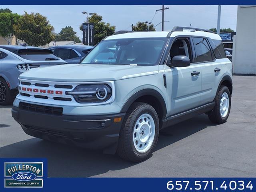
[(59, 82), (90, 82), (120, 80), (156, 73), (158, 73), (158, 65), (66, 64), (35, 68), (20, 74), (20, 78)]

